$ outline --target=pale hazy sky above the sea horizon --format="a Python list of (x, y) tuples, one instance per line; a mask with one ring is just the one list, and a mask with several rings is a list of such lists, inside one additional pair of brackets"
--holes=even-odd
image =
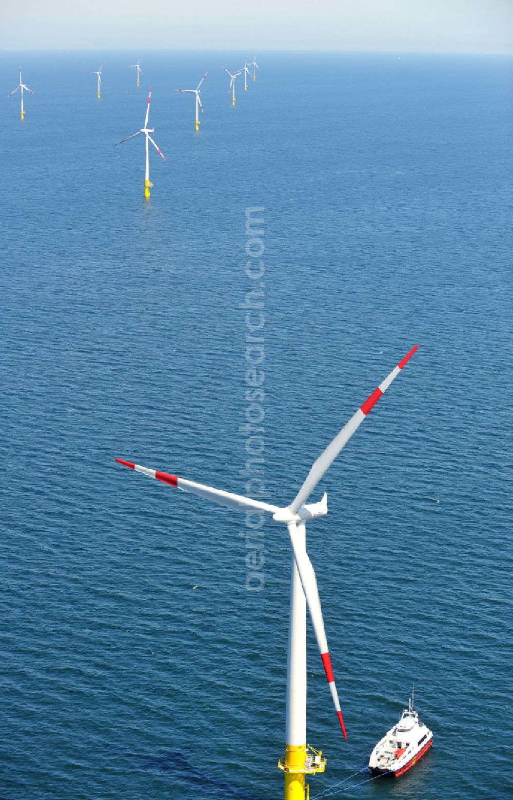
[(0, 47), (513, 53), (513, 0), (0, 0)]

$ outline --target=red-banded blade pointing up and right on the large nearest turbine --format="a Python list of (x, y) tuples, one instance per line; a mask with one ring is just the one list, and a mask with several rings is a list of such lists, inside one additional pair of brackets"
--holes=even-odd
[(331, 464), (335, 461), (335, 458), (337, 458), (340, 451), (343, 449), (343, 446), (347, 444), (351, 436), (355, 433), (355, 430), (359, 428), (363, 420), (367, 417), (369, 411), (371, 411), (371, 409), (375, 406), (379, 398), (382, 397), (382, 395), (391, 385), (391, 382), (394, 380), (394, 378), (396, 378), (399, 375), (399, 372), (403, 370), (403, 367), (415, 353), (415, 350), (418, 349), (419, 345), (412, 347), (407, 356), (403, 358), (403, 361), (399, 362), (399, 364), (395, 367), (395, 370), (392, 370), (391, 373), (387, 375), (387, 378), (385, 378), (385, 380), (379, 384), (378, 388), (363, 403), (363, 406), (360, 406), (359, 410), (353, 414), (349, 422), (343, 426), (343, 429), (340, 430), (339, 434), (337, 434), (333, 441), (330, 442), (326, 450), (323, 450), (323, 453), (319, 455), (319, 458), (311, 467), (306, 481), (303, 483), (303, 486), (301, 486), (301, 489), (289, 506), (294, 514), (297, 514), (298, 510), (301, 508), (301, 506), (303, 506), (303, 503), (307, 501), (312, 491), (315, 489), (315, 486), (317, 486), (321, 478), (323, 478), (323, 475), (327, 472)]

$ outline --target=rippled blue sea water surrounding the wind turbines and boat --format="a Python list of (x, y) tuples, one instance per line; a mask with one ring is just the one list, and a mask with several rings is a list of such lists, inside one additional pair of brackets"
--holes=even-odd
[[(248, 206), (271, 502), (420, 345), (313, 498), (348, 740), (309, 627), (311, 798), (413, 682), (429, 754), (330, 796), (511, 797), (511, 58), (261, 54), (233, 108), (245, 53), (142, 54), (139, 89), (138, 55), (23, 54), (26, 119), (2, 101), (0, 797), (283, 794), (286, 531), (250, 592), (242, 515), (114, 462), (244, 493)], [(206, 69), (196, 134), (174, 88)], [(145, 202), (143, 142), (113, 145), (150, 83)]]

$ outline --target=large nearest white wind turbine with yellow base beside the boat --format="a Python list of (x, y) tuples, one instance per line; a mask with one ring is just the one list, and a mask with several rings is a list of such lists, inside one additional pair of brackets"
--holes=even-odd
[(320, 502), (309, 503), (307, 499), (315, 489), (321, 478), (327, 472), (331, 463), (339, 455), (343, 446), (347, 444), (355, 430), (362, 424), (367, 414), (371, 411), (379, 398), (387, 390), (394, 378), (399, 375), (403, 367), (417, 350), (413, 347), (406, 358), (391, 371), (383, 383), (360, 406), (359, 410), (351, 417), (349, 422), (340, 430), (326, 450), (319, 456), (312, 466), (307, 479), (301, 486), (290, 506), (280, 508), (267, 502), (252, 500), (239, 494), (213, 489), (201, 483), (187, 481), (158, 470), (149, 470), (130, 461), (116, 458), (119, 464), (130, 467), (131, 470), (156, 478), (158, 481), (175, 486), (190, 494), (211, 500), (220, 506), (230, 509), (258, 514), (271, 514), (276, 522), (287, 525), (292, 546), (291, 565), (291, 603), (289, 622), (289, 646), (287, 658), (287, 726), (285, 738), (285, 758), (279, 762), (279, 768), (285, 773), (285, 800), (304, 800), (305, 775), (323, 772), (326, 768), (326, 758), (322, 752), (315, 755), (307, 753), (307, 606), (311, 622), (315, 630), (315, 637), (319, 646), (327, 682), (330, 686), (331, 697), (343, 731), (347, 738), (342, 711), (340, 710), (339, 695), (335, 686), (335, 678), (331, 668), (331, 658), (327, 646), (326, 631), (324, 630), (323, 612), (319, 601), (319, 591), (315, 579), (314, 568), (308, 558), (305, 538), (305, 525), (308, 519), (322, 517), (327, 514), (327, 494)]

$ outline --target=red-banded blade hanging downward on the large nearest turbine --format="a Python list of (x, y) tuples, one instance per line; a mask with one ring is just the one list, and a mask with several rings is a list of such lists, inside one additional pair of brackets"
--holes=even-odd
[(307, 550), (305, 550), (303, 542), (299, 541), (295, 535), (297, 533), (296, 523), (289, 522), (287, 527), (291, 537), (295, 563), (298, 567), (299, 579), (301, 580), (301, 586), (303, 586), (304, 595), (307, 598), (308, 611), (310, 613), (312, 625), (314, 626), (315, 638), (317, 639), (319, 652), (323, 660), (328, 686), (330, 687), (331, 698), (333, 698), (333, 704), (337, 712), (337, 717), (339, 718), (344, 738), (347, 739), (346, 726), (344, 725), (344, 718), (340, 710), (339, 693), (337, 692), (335, 677), (331, 668), (330, 652), (328, 650), (326, 630), (324, 629), (323, 611), (321, 609), (314, 567), (312, 566), (310, 558), (308, 558)]

